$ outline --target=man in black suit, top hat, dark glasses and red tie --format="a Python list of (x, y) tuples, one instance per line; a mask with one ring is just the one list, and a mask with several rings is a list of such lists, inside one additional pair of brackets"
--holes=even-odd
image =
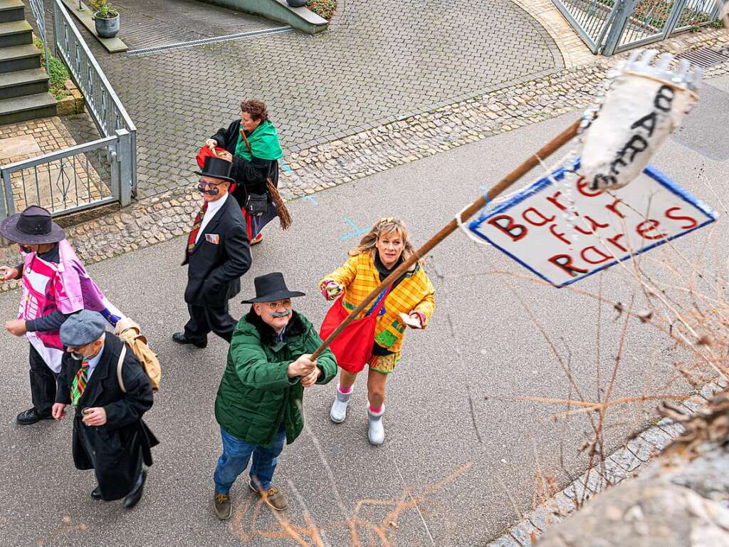
[(190, 321), (184, 331), (174, 333), (178, 344), (208, 345), (214, 332), (230, 342), (235, 319), (228, 312), (228, 300), (241, 291), (241, 276), (251, 266), (251, 247), (246, 236), (241, 208), (230, 198), (228, 189), (231, 163), (222, 158), (205, 158), (198, 190), (203, 206), (195, 217), (187, 238), (184, 261), (187, 288), (184, 300)]

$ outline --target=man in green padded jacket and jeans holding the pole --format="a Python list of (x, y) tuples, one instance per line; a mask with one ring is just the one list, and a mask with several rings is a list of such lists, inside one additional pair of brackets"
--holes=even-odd
[(291, 298), (303, 292), (286, 288), (283, 274), (258, 276), (256, 298), (233, 332), (227, 366), (215, 399), (223, 453), (215, 468), (215, 513), (230, 517), (230, 487), (251, 465), (249, 486), (276, 511), (286, 508), (284, 494), (271, 480), (284, 443), (293, 443), (304, 427), (304, 388), (327, 384), (337, 362), (327, 349), (311, 354), (321, 338), (311, 322), (293, 311)]

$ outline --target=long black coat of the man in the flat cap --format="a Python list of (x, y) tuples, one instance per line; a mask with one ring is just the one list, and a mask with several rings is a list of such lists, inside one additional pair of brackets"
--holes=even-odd
[[(131, 492), (139, 471), (141, 454), (146, 465), (152, 465), (152, 446), (159, 441), (141, 417), (152, 407), (152, 386), (147, 374), (131, 349), (122, 363), (122, 380), (126, 393), (117, 379), (117, 362), (122, 342), (112, 333), (106, 333), (104, 352), (91, 374), (87, 387), (79, 399), (74, 416), (72, 453), (77, 469), (94, 469), (101, 497), (118, 500)], [(71, 384), (81, 362), (69, 353), (61, 360), (56, 402), (71, 404)], [(82, 408), (104, 407), (106, 424), (89, 426), (82, 422)], [(94, 454), (89, 454), (82, 440), (85, 435)]]

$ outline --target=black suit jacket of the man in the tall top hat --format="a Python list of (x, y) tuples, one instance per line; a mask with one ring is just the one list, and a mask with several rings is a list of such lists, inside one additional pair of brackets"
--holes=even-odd
[[(206, 235), (211, 239), (208, 241)], [(225, 306), (241, 292), (241, 276), (251, 267), (251, 247), (241, 208), (230, 196), (208, 222), (192, 253), (185, 249), (182, 265), (188, 264), (184, 301), (196, 306)]]

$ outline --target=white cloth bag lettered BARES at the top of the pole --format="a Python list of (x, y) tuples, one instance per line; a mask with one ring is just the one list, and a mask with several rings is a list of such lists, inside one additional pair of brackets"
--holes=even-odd
[(636, 51), (620, 66), (597, 120), (586, 131), (582, 170), (591, 190), (631, 182), (698, 101), (694, 90), (701, 83), (701, 69), (690, 71), (690, 63), (682, 59), (677, 71), (670, 71), (671, 53), (663, 53), (651, 66), (657, 53)]

